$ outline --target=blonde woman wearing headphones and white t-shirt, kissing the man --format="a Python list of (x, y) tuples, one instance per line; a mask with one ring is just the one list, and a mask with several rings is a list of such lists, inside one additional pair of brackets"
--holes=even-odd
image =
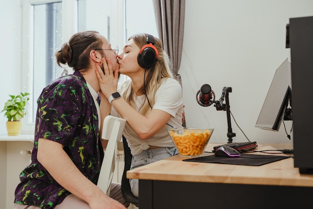
[[(166, 128), (182, 127), (181, 86), (172, 78), (169, 61), (159, 39), (147, 34), (130, 37), (117, 56), (119, 70), (102, 59), (104, 74), (98, 64), (95, 71), (101, 92), (112, 105), (111, 115), (127, 121), (123, 135), (133, 155), (131, 169), (175, 154)], [(130, 80), (117, 93), (118, 73)], [(138, 196), (138, 179), (130, 180)]]

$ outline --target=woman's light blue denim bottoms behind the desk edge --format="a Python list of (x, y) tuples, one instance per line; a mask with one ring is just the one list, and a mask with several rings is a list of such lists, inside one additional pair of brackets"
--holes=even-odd
[[(156, 162), (158, 160), (171, 157), (177, 154), (175, 147), (160, 147), (156, 149), (143, 150), (139, 154), (132, 156), (130, 169), (140, 167), (142, 165)], [(138, 197), (138, 179), (129, 179), (132, 193)]]

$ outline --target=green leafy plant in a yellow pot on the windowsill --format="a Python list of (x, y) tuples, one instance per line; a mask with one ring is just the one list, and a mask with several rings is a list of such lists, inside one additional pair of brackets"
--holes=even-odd
[(20, 93), (16, 96), (9, 95), (10, 99), (4, 104), (1, 112), (7, 118), (6, 130), (8, 135), (19, 135), (21, 122), (20, 120), (26, 115), (25, 105), (29, 100), (29, 93)]

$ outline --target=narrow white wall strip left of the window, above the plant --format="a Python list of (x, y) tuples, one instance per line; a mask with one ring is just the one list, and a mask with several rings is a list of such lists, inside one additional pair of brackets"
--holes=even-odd
[[(0, 111), (9, 99), (8, 94), (21, 92), (20, 61), (21, 61), (21, 9), (20, 0), (0, 3)], [(3, 4), (5, 3), (5, 4)], [(3, 112), (0, 113), (0, 135), (6, 134)]]

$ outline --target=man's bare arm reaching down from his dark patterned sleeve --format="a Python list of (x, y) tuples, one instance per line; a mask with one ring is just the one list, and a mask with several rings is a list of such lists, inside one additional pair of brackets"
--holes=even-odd
[(37, 159), (61, 186), (86, 201), (91, 209), (125, 209), (78, 170), (61, 144), (39, 138)]

